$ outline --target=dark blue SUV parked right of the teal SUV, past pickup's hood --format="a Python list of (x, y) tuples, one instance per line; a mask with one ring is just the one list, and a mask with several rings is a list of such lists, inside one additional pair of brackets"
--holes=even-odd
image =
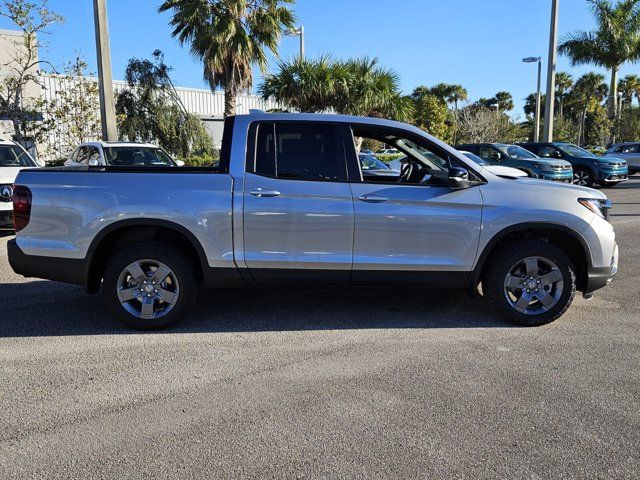
[(612, 187), (627, 180), (627, 162), (614, 157), (598, 157), (572, 143), (521, 143), (518, 144), (542, 158), (566, 160), (573, 166), (573, 183), (592, 187), (598, 183)]

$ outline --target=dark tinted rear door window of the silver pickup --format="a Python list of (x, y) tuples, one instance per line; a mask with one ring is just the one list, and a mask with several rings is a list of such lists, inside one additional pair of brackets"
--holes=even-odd
[(255, 173), (288, 180), (346, 179), (339, 132), (332, 124), (264, 123), (256, 132)]

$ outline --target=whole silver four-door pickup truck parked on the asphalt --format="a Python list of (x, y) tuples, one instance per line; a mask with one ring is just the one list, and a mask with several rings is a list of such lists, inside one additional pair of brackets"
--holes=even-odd
[[(363, 170), (365, 142), (406, 155), (402, 170)], [(602, 193), (497, 176), (415, 127), (381, 119), (230, 117), (216, 167), (26, 170), (13, 200), (13, 269), (100, 292), (139, 329), (185, 317), (201, 284), (474, 295), (481, 284), (497, 314), (540, 325), (618, 268)]]

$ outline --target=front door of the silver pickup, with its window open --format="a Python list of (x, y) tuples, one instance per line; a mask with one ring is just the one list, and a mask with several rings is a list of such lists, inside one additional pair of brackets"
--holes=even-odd
[(354, 127), (354, 134), (387, 142), (393, 138), (413, 162), (424, 162), (424, 169), (404, 168), (396, 179), (365, 175), (351, 184), (352, 282), (462, 285), (473, 268), (480, 238), (479, 187), (452, 190), (446, 182), (446, 151), (415, 134), (403, 139), (402, 131), (368, 132), (363, 127)]

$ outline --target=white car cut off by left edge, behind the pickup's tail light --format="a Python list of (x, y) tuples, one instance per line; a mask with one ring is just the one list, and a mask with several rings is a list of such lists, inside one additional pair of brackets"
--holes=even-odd
[(39, 165), (16, 142), (0, 139), (0, 228), (13, 228), (13, 183), (23, 168)]

